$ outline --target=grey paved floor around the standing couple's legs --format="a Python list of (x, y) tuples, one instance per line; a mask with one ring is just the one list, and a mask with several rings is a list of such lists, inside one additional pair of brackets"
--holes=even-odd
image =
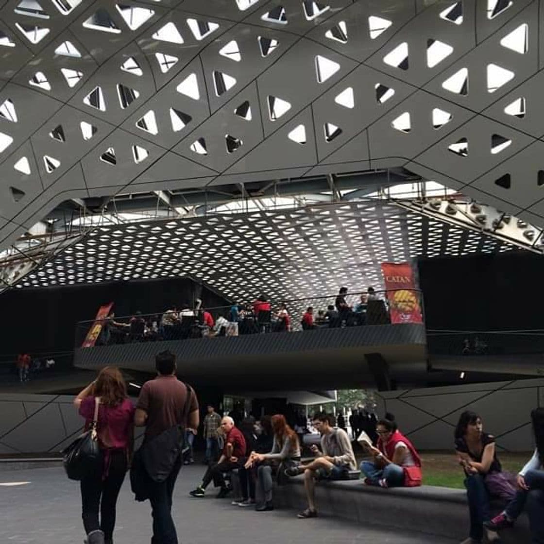
[[(183, 467), (175, 490), (174, 513), (180, 544), (437, 544), (436, 537), (392, 533), (383, 527), (349, 524), (333, 518), (298, 520), (293, 510), (257, 513), (215, 499), (190, 498), (202, 465)], [(24, 485), (5, 486), (6, 483)], [(0, 542), (2, 544), (78, 544), (83, 542), (78, 483), (61, 468), (2, 471), (0, 466)], [(128, 478), (118, 503), (115, 544), (146, 544), (151, 538), (149, 502), (136, 503)], [(453, 540), (443, 539), (444, 544)]]

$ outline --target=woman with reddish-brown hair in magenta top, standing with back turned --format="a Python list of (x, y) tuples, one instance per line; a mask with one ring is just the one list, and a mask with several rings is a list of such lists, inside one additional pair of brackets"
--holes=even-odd
[[(103, 465), (97, 474), (81, 480), (83, 526), (88, 544), (113, 544), (115, 506), (132, 453), (134, 406), (119, 369), (106, 367), (96, 381), (77, 395), (74, 405), (85, 418), (85, 428), (92, 423), (98, 405), (97, 434)], [(100, 510), (100, 521), (98, 511)]]

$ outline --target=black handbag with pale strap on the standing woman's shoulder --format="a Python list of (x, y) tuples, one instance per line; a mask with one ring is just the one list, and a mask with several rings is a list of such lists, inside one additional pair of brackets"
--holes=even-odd
[(91, 428), (79, 435), (70, 446), (63, 449), (63, 466), (68, 478), (82, 480), (88, 474), (94, 474), (102, 466), (102, 452), (98, 447), (96, 424), (98, 421), (98, 404), (100, 399), (95, 398), (95, 415)]

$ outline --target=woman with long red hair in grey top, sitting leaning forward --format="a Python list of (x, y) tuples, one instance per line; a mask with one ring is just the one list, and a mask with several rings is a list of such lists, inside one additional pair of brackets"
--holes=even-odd
[[(257, 512), (274, 510), (272, 505), (272, 469), (273, 465), (278, 468), (278, 474), (295, 463), (300, 462), (300, 443), (296, 432), (287, 424), (285, 416), (276, 414), (271, 418), (272, 430), (274, 431), (274, 442), (269, 453), (251, 452), (245, 467), (249, 468), (255, 463), (262, 463), (257, 468)], [(268, 461), (268, 462), (267, 462)], [(279, 467), (279, 465), (282, 465)]]

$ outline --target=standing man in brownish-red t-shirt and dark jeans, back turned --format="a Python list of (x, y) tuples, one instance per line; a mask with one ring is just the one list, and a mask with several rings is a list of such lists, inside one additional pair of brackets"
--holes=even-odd
[[(176, 378), (176, 356), (163, 351), (155, 357), (157, 377), (146, 381), (136, 405), (134, 423), (145, 426), (145, 440), (181, 424), (187, 429), (199, 426), (199, 404), (195, 392)], [(188, 413), (185, 413), (187, 392), (190, 391)], [(153, 481), (150, 501), (153, 516), (153, 538), (157, 544), (177, 544), (176, 526), (172, 520), (172, 493), (181, 468), (181, 456), (165, 481)]]

